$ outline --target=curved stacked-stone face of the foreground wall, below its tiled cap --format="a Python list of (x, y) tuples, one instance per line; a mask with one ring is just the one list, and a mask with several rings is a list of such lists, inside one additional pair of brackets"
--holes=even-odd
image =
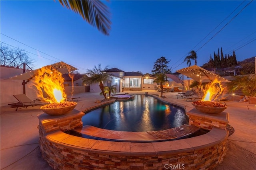
[(170, 169), (170, 165), (186, 170), (213, 169), (226, 155), (226, 140), (218, 145), (203, 147), (192, 152), (174, 152), (173, 154), (164, 152), (164, 154), (152, 156), (126, 156), (122, 152), (120, 154), (93, 153), (90, 149), (68, 147), (47, 139), (44, 146), (42, 157), (57, 170), (157, 170), (166, 169), (166, 167)]

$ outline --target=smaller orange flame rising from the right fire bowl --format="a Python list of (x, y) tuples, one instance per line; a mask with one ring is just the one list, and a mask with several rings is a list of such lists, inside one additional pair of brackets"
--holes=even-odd
[(205, 89), (206, 92), (204, 93), (202, 101), (213, 101), (224, 91), (224, 88), (220, 84), (220, 81), (217, 79), (207, 84), (205, 86)]

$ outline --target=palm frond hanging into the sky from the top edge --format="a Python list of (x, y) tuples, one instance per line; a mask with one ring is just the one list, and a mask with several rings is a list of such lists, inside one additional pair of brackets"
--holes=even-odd
[(109, 35), (111, 29), (108, 7), (99, 0), (59, 0), (60, 4), (69, 10), (80, 14), (84, 20), (104, 35)]

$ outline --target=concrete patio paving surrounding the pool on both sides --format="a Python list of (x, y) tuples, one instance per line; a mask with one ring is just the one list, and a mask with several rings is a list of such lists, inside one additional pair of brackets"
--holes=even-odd
[[(129, 91), (129, 94), (144, 94), (146, 91)], [(156, 91), (147, 91), (149, 94), (160, 94)], [(120, 93), (123, 94), (123, 93)], [(186, 99), (177, 99), (176, 92), (164, 93), (164, 100), (182, 104), (186, 111), (193, 108)], [(102, 100), (99, 93), (81, 93), (74, 97), (78, 99), (77, 110), (83, 111), (98, 104)], [(255, 104), (228, 102), (225, 110), (230, 113), (230, 125), (235, 132), (228, 137), (227, 154), (222, 164), (215, 170), (254, 170), (256, 169), (256, 107)], [(38, 146), (38, 118), (42, 113), (40, 106), (18, 109), (3, 106), (0, 109), (1, 130), (1, 170), (52, 170), (46, 161), (41, 158)]]

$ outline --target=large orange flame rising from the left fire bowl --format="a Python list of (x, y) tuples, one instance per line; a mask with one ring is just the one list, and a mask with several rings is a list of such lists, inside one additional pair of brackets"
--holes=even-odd
[(51, 66), (44, 66), (37, 70), (34, 86), (37, 88), (37, 96), (44, 102), (65, 102), (64, 78), (61, 72)]

